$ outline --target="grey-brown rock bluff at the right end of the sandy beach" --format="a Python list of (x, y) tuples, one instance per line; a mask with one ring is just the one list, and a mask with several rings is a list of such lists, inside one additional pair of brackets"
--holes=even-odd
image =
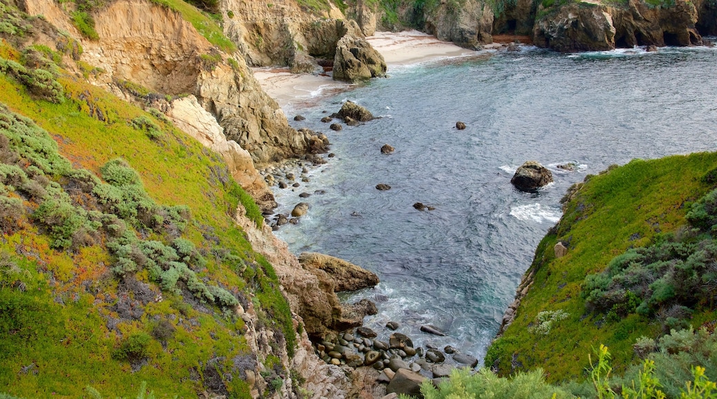
[(457, 8), (450, 1), (441, 1), (424, 15), (424, 31), (438, 39), (452, 41), (466, 49), (478, 49), (493, 43), (493, 11), (485, 1), (465, 0)]

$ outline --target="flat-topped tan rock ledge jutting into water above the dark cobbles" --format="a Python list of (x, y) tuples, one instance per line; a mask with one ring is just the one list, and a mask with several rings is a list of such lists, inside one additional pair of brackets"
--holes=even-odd
[(318, 269), (328, 273), (335, 282), (336, 292), (361, 290), (379, 283), (379, 277), (374, 273), (338, 257), (303, 252), (299, 255), (299, 263), (305, 269)]

